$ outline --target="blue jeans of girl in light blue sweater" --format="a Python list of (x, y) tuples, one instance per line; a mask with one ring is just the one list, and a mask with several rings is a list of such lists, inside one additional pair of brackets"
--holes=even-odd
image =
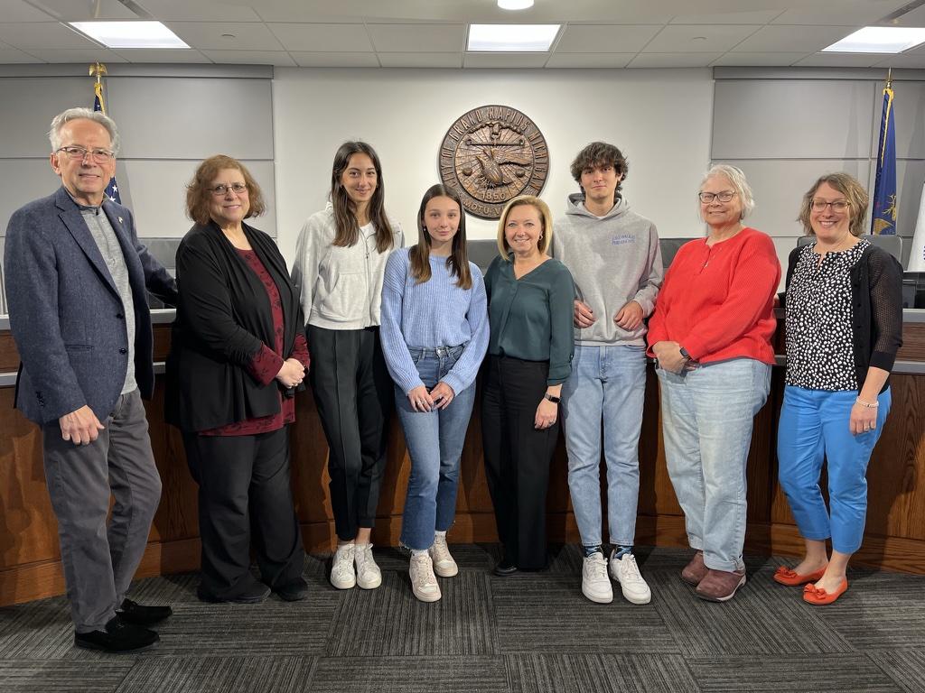
[[(410, 349), (417, 372), (432, 389), (462, 356), (463, 346)], [(465, 433), (475, 402), (475, 383), (456, 393), (445, 409), (414, 411), (408, 396), (395, 388), (395, 404), (411, 457), (411, 476), (401, 518), (401, 543), (423, 551), (434, 531), (450, 529), (456, 517), (456, 489)]]

